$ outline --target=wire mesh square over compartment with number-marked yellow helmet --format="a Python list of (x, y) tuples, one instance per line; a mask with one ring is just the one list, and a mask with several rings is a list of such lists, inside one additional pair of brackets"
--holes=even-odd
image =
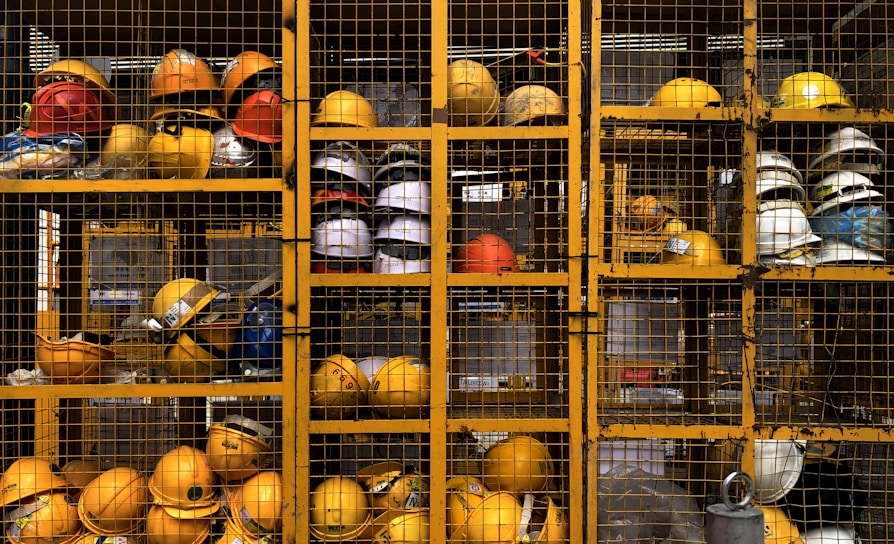
[(430, 309), (425, 290), (315, 289), (312, 416), (427, 418)]

